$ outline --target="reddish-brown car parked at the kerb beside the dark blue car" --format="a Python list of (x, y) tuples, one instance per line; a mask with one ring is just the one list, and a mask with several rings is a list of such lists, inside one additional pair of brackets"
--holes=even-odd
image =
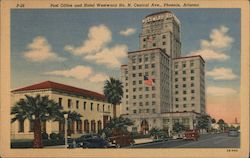
[(120, 134), (116, 136), (109, 137), (109, 141), (114, 144), (117, 148), (123, 146), (132, 146), (135, 141), (130, 134)]

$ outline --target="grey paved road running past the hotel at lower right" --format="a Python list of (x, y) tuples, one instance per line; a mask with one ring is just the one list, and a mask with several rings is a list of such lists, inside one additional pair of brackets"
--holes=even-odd
[(133, 148), (239, 148), (240, 136), (229, 137), (226, 133), (201, 135), (198, 141), (169, 140), (135, 145)]

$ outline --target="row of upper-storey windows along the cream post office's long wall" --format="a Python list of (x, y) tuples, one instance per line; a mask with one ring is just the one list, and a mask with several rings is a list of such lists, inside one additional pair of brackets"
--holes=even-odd
[[(62, 105), (62, 98), (58, 98), (58, 104), (59, 106), (63, 106)], [(76, 109), (79, 109), (79, 100), (76, 100)], [(83, 110), (86, 110), (87, 108), (87, 102), (84, 101), (83, 102)], [(72, 109), (73, 108), (73, 103), (72, 103), (72, 100), (71, 99), (68, 99), (68, 109)], [(94, 110), (94, 103), (93, 102), (90, 102), (90, 110), (93, 111)], [(100, 111), (100, 104), (97, 104), (97, 108), (96, 108), (97, 111)], [(105, 104), (102, 105), (102, 111), (105, 111)], [(110, 105), (108, 105), (108, 111), (110, 111)]]

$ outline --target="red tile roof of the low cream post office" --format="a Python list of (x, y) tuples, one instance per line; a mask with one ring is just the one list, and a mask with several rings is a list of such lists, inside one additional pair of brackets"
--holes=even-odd
[(41, 82), (41, 83), (34, 84), (31, 86), (19, 88), (19, 89), (13, 90), (12, 92), (41, 90), (41, 89), (59, 90), (59, 91), (63, 91), (66, 93), (72, 93), (72, 94), (84, 96), (87, 98), (93, 98), (93, 99), (97, 99), (97, 100), (105, 100), (105, 96), (103, 94), (89, 91), (86, 89), (80, 89), (80, 88), (68, 86), (68, 85), (61, 84), (61, 83), (52, 82), (52, 81), (45, 81), (45, 82)]

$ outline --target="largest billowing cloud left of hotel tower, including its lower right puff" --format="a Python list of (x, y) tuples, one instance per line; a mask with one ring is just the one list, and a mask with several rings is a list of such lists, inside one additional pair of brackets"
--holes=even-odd
[(73, 55), (81, 56), (83, 60), (105, 65), (109, 68), (120, 67), (122, 58), (127, 56), (127, 46), (116, 44), (108, 47), (112, 41), (112, 33), (105, 25), (92, 26), (89, 29), (88, 39), (80, 47), (65, 46), (65, 50)]

